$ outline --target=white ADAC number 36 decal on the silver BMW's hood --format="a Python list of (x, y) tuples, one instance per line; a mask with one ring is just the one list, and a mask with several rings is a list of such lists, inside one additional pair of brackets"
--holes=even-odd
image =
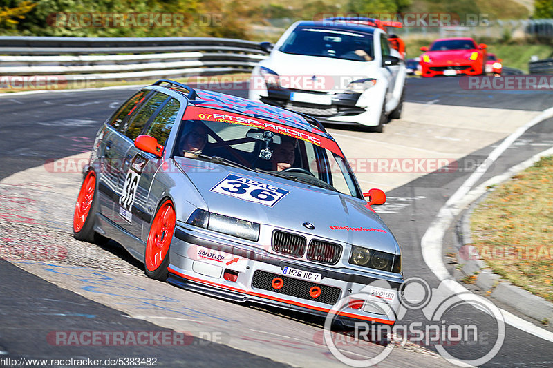
[(290, 193), (284, 189), (269, 184), (257, 182), (247, 177), (229, 174), (219, 184), (211, 189), (212, 192), (230, 195), (248, 202), (256, 202), (272, 207), (285, 195)]

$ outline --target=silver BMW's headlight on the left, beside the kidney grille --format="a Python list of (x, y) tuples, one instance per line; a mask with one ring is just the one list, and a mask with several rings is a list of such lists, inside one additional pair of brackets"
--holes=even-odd
[(219, 215), (218, 213), (207, 212), (203, 209), (196, 209), (190, 217), (188, 217), (186, 223), (217, 231), (218, 233), (252, 240), (252, 242), (256, 242), (259, 239), (259, 224), (256, 222)]

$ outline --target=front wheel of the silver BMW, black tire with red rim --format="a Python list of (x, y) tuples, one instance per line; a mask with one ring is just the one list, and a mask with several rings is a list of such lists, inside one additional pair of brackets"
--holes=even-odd
[[(172, 217), (169, 221), (164, 220), (163, 212), (171, 207)], [(169, 223), (170, 226), (165, 226)], [(153, 216), (146, 242), (146, 252), (144, 253), (144, 273), (149, 278), (165, 281), (169, 275), (169, 249), (171, 239), (173, 238), (176, 226), (176, 213), (173, 202), (169, 199), (163, 200)], [(154, 246), (156, 244), (156, 246)], [(161, 251), (160, 248), (164, 251)]]

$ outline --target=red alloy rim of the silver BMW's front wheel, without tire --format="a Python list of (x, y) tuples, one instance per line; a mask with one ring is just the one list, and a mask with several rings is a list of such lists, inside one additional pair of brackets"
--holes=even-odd
[(165, 260), (175, 230), (175, 209), (171, 200), (160, 206), (151, 224), (144, 262), (149, 271), (156, 271)]

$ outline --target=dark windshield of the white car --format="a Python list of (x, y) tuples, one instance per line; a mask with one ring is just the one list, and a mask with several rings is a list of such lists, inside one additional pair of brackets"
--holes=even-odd
[(373, 35), (315, 27), (296, 28), (279, 50), (286, 54), (355, 61), (371, 61), (375, 57)]

